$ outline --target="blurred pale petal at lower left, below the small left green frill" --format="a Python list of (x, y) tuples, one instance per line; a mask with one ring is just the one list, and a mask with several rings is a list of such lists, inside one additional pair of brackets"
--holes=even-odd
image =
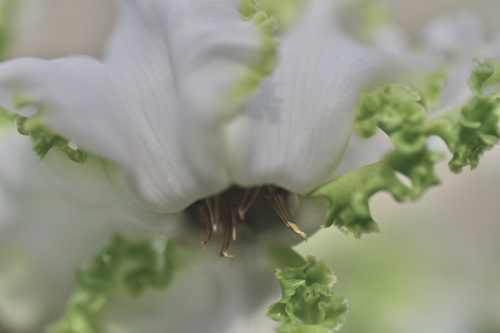
[(72, 178), (92, 184), (94, 198), (104, 198), (105, 207), (79, 201), (81, 193), (60, 191), (30, 145), (15, 129), (0, 133), (0, 207), (8, 207), (0, 213), (0, 318), (8, 332), (42, 332), (54, 311), (64, 308), (74, 270), (118, 228), (127, 233), (139, 225), (109, 184), (96, 185), (91, 172), (72, 169)]

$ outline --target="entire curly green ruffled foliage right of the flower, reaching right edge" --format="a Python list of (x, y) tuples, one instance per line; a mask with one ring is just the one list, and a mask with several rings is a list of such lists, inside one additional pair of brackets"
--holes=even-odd
[[(355, 237), (377, 231), (368, 207), (373, 194), (387, 191), (399, 202), (415, 200), (438, 184), (434, 165), (445, 155), (427, 148), (430, 136), (440, 137), (453, 153), (449, 161), (452, 172), (458, 173), (466, 165), (477, 167), (482, 154), (500, 140), (500, 94), (482, 93), (494, 66), (490, 61), (478, 64), (469, 79), (476, 95), (463, 106), (434, 117), (429, 117), (428, 109), (438, 99), (440, 74), (431, 76), (427, 88), (420, 92), (392, 84), (360, 94), (356, 133), (369, 138), (379, 128), (392, 140), (394, 150), (382, 161), (347, 172), (308, 194), (329, 201), (325, 227), (335, 225)], [(422, 91), (426, 98), (422, 98)]]

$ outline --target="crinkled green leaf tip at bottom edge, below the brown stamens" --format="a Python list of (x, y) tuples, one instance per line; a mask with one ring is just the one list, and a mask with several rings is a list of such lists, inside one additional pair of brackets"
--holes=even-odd
[(267, 316), (281, 322), (277, 333), (328, 333), (340, 329), (347, 300), (331, 292), (335, 277), (324, 262), (308, 256), (299, 267), (278, 268), (276, 277), (283, 295), (267, 308)]

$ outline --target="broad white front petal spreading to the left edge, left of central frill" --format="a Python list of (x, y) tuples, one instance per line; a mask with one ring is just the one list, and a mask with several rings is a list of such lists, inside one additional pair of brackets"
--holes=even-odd
[(56, 133), (117, 162), (150, 207), (177, 212), (230, 184), (224, 112), (260, 35), (235, 0), (120, 4), (103, 62), (8, 61), (0, 85), (27, 95)]

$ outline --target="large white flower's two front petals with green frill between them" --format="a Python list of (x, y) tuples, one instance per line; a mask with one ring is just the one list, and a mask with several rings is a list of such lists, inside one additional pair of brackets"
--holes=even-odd
[[(394, 64), (344, 35), (332, 1), (304, 1), (274, 37), (262, 12), (238, 11), (251, 2), (121, 0), (102, 60), (2, 63), (4, 97), (35, 108), (3, 106), (39, 112), (53, 132), (117, 163), (133, 193), (125, 201), (164, 225), (230, 186), (307, 193), (340, 162), (360, 89)], [(308, 222), (306, 233), (322, 221)]]

